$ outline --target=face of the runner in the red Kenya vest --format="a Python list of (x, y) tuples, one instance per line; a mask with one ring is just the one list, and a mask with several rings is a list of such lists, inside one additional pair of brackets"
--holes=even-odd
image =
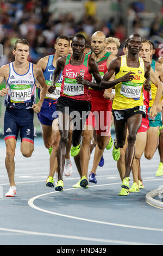
[(85, 49), (84, 38), (74, 37), (71, 46), (72, 46), (72, 51), (74, 56), (77, 56), (77, 57), (82, 56)]

